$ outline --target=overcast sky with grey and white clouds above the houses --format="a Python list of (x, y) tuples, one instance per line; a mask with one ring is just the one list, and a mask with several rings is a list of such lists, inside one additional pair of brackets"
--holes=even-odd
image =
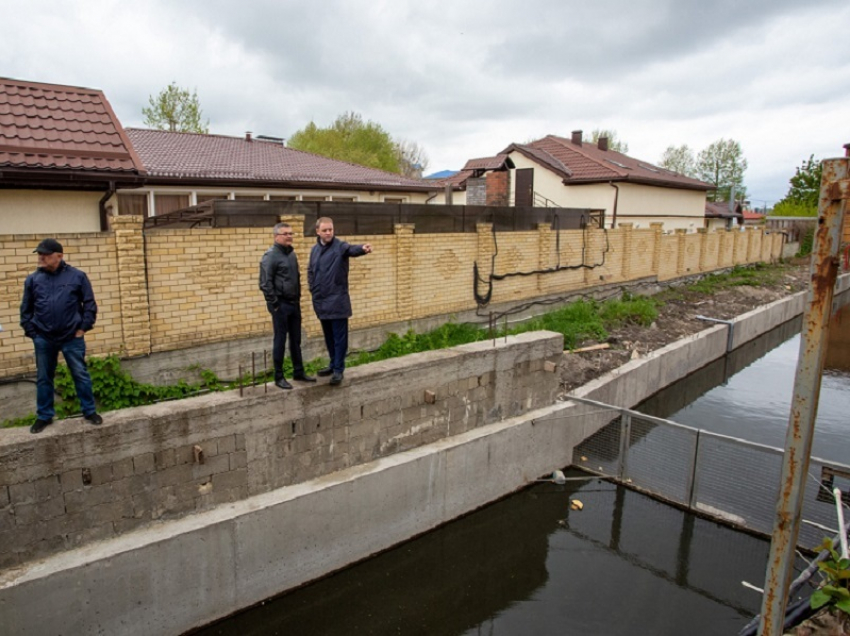
[(511, 142), (613, 129), (741, 143), (754, 205), (850, 142), (847, 0), (0, 0), (0, 76), (102, 89), (125, 126), (170, 82), (210, 132), (289, 137), (345, 111), (427, 172)]

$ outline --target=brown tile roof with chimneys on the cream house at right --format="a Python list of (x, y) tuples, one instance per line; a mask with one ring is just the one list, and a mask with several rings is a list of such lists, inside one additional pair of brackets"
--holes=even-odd
[(629, 181), (688, 190), (713, 190), (714, 186), (676, 172), (634, 159), (616, 150), (600, 150), (594, 143), (574, 144), (547, 135), (530, 144), (511, 144), (502, 152), (520, 152), (543, 163), (564, 179), (565, 185)]

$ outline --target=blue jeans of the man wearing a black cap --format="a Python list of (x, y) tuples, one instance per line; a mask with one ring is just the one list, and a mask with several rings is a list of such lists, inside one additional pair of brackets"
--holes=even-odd
[(65, 357), (65, 364), (74, 379), (77, 389), (77, 399), (83, 415), (91, 415), (97, 411), (94, 405), (94, 394), (91, 387), (91, 376), (86, 367), (86, 340), (85, 338), (73, 338), (68, 342), (55, 343), (36, 336), (33, 338), (35, 345), (35, 364), (38, 369), (36, 379), (36, 412), (40, 420), (50, 420), (56, 415), (53, 408), (53, 379), (56, 377), (56, 363), (59, 352)]

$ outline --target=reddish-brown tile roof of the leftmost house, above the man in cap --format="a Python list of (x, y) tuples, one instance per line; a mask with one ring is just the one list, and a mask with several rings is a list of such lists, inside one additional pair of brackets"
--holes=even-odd
[(103, 180), (142, 172), (101, 91), (8, 78), (0, 78), (0, 167), (41, 179), (68, 171)]

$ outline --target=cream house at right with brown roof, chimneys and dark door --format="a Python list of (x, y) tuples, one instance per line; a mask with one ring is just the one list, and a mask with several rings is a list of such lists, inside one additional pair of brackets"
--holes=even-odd
[[(706, 227), (706, 192), (714, 186), (611, 150), (607, 138), (588, 143), (580, 130), (570, 139), (547, 135), (511, 144), (497, 157), (504, 160), (495, 170), (507, 174), (492, 185), (504, 190), (491, 193), (488, 183), (487, 199), (503, 196), (516, 206), (603, 210), (606, 227), (632, 223), (646, 228), (655, 222), (663, 223), (665, 231)], [(487, 174), (477, 178), (489, 175), (486, 168), (482, 172)], [(449, 179), (455, 203), (468, 198), (470, 179), (475, 178), (461, 171)]]

